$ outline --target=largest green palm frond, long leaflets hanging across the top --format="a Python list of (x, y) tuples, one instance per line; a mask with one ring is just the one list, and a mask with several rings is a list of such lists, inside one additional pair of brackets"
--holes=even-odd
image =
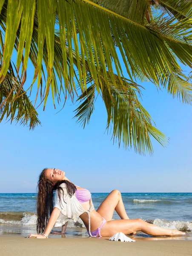
[[(12, 1), (13, 5), (11, 4)], [(169, 38), (163, 35), (163, 33), (143, 23), (143, 17), (149, 4), (148, 0), (122, 0), (120, 1), (120, 8), (120, 6), (115, 5), (114, 1), (104, 1), (104, 3), (101, 1), (97, 4), (94, 1), (86, 0), (43, 0), (42, 2), (37, 0), (36, 12), (30, 12), (29, 15), (29, 7), (26, 6), (25, 0), (6, 0), (0, 15), (2, 24), (6, 24), (4, 25), (6, 47), (3, 52), (4, 62), (0, 72), (0, 79), (3, 81), (6, 75), (7, 63), (10, 61), (15, 40), (18, 38), (18, 42), (20, 42), (20, 38), (26, 38), (26, 32), (23, 32), (24, 13), (28, 15), (27, 17), (31, 21), (30, 24), (33, 25), (31, 26), (33, 27), (33, 34), (31, 34), (32, 30), (30, 30), (27, 36), (27, 46), (29, 46), (30, 42), (34, 42), (35, 45), (32, 45), (32, 47), (37, 48), (37, 60), (34, 63), (34, 81), (38, 76), (37, 90), (42, 83), (42, 61), (46, 61), (47, 78), (44, 105), (46, 104), (49, 90), (52, 91), (53, 100), (54, 96), (58, 97), (57, 85), (55, 84), (56, 81), (53, 74), (58, 74), (59, 72), (54, 72), (55, 68), (60, 70), (60, 67), (62, 67), (60, 73), (64, 80), (65, 90), (63, 90), (63, 85), (61, 85), (60, 89), (72, 94), (76, 93), (73, 51), (77, 56), (77, 70), (82, 91), (86, 90), (87, 74), (85, 61), (88, 64), (98, 92), (101, 84), (100, 68), (103, 70), (105, 83), (108, 83), (106, 75), (108, 71), (110, 79), (115, 85), (113, 63), (115, 64), (119, 80), (123, 84), (121, 79), (123, 77), (122, 69), (115, 45), (120, 49), (131, 80), (137, 76), (145, 76), (158, 85), (161, 82), (159, 81), (161, 78), (162, 81), (164, 79), (169, 80), (169, 73), (172, 73), (173, 69), (176, 75), (179, 75), (181, 69), (176, 60), (176, 49), (180, 48), (177, 53), (180, 61), (192, 67), (192, 49), (190, 44), (183, 44), (182, 42), (182, 45), (179, 47), (180, 41), (169, 42)], [(49, 8), (46, 8), (46, 6), (49, 6)], [(127, 10), (129, 10), (129, 17), (127, 15), (123, 16)], [(59, 22), (62, 63), (55, 61), (55, 56), (58, 54), (58, 52), (56, 54), (54, 52), (55, 20)], [(178, 24), (177, 32), (175, 33), (179, 35), (181, 30), (183, 31), (188, 26), (187, 23), (189, 25), (190, 21), (183, 21)], [(69, 47), (68, 58), (66, 56), (66, 43)], [(20, 45), (17, 46), (18, 56), (23, 51), (23, 44)], [(80, 53), (82, 64), (78, 61)], [(18, 57), (17, 67), (20, 65), (19, 59)], [(25, 62), (25, 67), (26, 64)], [(25, 70), (25, 67), (23, 66), (23, 70)], [(99, 76), (97, 76), (97, 72)]]

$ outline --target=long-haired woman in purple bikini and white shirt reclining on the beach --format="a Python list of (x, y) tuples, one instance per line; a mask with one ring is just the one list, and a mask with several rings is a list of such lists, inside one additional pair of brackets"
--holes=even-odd
[[(38, 181), (37, 197), (37, 233), (28, 236), (48, 238), (53, 226), (62, 227), (65, 232), (69, 219), (77, 221), (80, 217), (86, 226), (89, 236), (113, 236), (115, 233), (125, 234), (142, 231), (152, 236), (185, 235), (178, 230), (165, 229), (149, 224), (142, 219), (130, 220), (126, 214), (121, 194), (113, 190), (95, 210), (91, 194), (87, 189), (75, 186), (59, 169), (43, 169)], [(55, 194), (55, 203), (53, 202)], [(114, 210), (120, 220), (112, 220)], [(49, 217), (50, 216), (50, 217)]]

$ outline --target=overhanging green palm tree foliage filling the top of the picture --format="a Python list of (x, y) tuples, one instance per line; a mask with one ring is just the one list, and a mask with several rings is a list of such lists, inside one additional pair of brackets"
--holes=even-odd
[[(151, 136), (166, 145), (166, 137), (140, 104), (142, 87), (137, 81), (151, 81), (182, 102), (192, 103), (192, 87), (179, 64), (192, 67), (192, 1), (0, 0), (0, 11), (1, 32), (5, 32), (0, 52), (0, 120), (9, 108), (11, 120), (20, 109), (17, 121), (30, 120), (30, 128), (40, 123), (23, 90), (30, 58), (34, 65), (30, 88), (37, 80), (37, 96), (44, 108), (49, 92), (58, 103), (61, 93), (72, 101), (77, 95), (80, 105), (75, 117), (84, 126), (98, 94), (106, 106), (107, 128), (119, 144), (122, 141), (139, 154), (153, 152)], [(13, 49), (17, 50), (15, 74), (10, 72)], [(28, 116), (22, 102), (28, 102), (33, 116)]]

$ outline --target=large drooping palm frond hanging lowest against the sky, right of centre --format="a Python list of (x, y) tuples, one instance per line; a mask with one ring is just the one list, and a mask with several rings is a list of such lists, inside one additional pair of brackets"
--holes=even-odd
[[(108, 114), (107, 129), (112, 125), (114, 141), (125, 148), (134, 148), (139, 154), (153, 153), (151, 136), (165, 146), (165, 135), (152, 125), (152, 118), (140, 104), (132, 84), (126, 84), (126, 93), (117, 84), (111, 84), (109, 94), (103, 86), (103, 100)], [(112, 98), (112, 99), (111, 99)]]

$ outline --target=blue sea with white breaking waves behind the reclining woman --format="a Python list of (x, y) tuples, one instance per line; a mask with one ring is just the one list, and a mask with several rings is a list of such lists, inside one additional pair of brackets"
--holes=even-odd
[[(97, 209), (109, 193), (92, 193)], [(121, 193), (130, 219), (142, 218), (160, 227), (186, 232), (192, 240), (192, 193)], [(0, 235), (27, 236), (36, 233), (36, 193), (0, 193)], [(114, 211), (112, 219), (120, 219)], [(61, 228), (53, 228), (61, 230)], [(50, 237), (60, 237), (50, 235)], [(63, 237), (63, 236), (62, 236)], [(69, 221), (64, 237), (88, 237), (80, 218)], [(138, 232), (135, 237), (150, 237)]]

